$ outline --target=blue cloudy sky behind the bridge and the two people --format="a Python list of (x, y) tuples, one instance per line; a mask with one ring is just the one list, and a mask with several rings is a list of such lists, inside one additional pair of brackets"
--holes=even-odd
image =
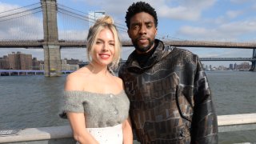
[[(2, 12), (13, 10), (40, 2), (39, 0), (0, 0), (0, 40), (5, 39), (42, 39), (42, 19), (27, 18), (26, 22), (5, 24), (1, 22)], [(116, 25), (124, 27), (120, 32), (122, 38), (126, 34), (125, 14), (134, 0), (57, 0), (59, 6), (67, 6), (88, 14), (90, 11), (103, 10), (114, 18)], [(146, 0), (158, 14), (158, 38), (171, 40), (222, 41), (222, 42), (256, 42), (256, 1), (255, 0)], [(65, 7), (64, 7), (65, 8)], [(22, 9), (26, 9), (22, 8)], [(28, 8), (27, 8), (28, 9)], [(61, 18), (59, 18), (61, 19)], [(69, 20), (67, 20), (69, 21)], [(64, 21), (63, 21), (64, 22)], [(72, 20), (69, 21), (70, 23)], [(73, 24), (61, 21), (58, 23), (59, 38), (86, 39), (86, 28), (65, 30), (64, 25)], [(18, 28), (22, 26), (22, 28)], [(76, 22), (75, 27), (79, 27)], [(82, 26), (82, 25), (81, 25)], [(26, 27), (26, 29), (24, 29)], [(63, 27), (63, 28), (62, 28)], [(203, 58), (251, 58), (253, 50), (218, 49), (218, 48), (187, 48)], [(122, 48), (122, 58), (126, 59), (133, 48)], [(12, 51), (32, 54), (43, 60), (41, 49), (0, 49), (0, 57)], [(86, 61), (85, 49), (62, 49), (62, 58), (78, 58)], [(234, 62), (202, 62), (206, 65), (228, 66)], [(241, 63), (241, 62), (236, 62)]]

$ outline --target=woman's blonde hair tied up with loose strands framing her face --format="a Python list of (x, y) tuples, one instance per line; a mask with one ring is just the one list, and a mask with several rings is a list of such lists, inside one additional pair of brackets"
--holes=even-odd
[(96, 43), (96, 40), (98, 38), (98, 34), (104, 30), (109, 29), (114, 35), (114, 56), (113, 61), (110, 63), (109, 68), (110, 69), (116, 69), (118, 67), (118, 63), (120, 60), (120, 54), (121, 54), (121, 41), (118, 35), (118, 30), (116, 26), (114, 26), (114, 21), (110, 16), (105, 16), (103, 18), (99, 18), (94, 26), (90, 27), (88, 36), (87, 36), (87, 57), (88, 61), (91, 62), (91, 54), (93, 53), (94, 45)]

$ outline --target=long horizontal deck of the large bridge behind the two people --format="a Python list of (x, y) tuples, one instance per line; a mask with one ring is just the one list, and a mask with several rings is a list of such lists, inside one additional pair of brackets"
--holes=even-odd
[[(238, 49), (255, 49), (256, 42), (210, 42), (210, 41), (164, 41), (169, 46), (180, 47), (211, 47), (211, 48), (238, 48)], [(43, 45), (58, 45), (61, 48), (86, 47), (85, 41), (66, 41), (44, 42), (43, 40), (33, 41), (0, 41), (0, 48), (42, 48)], [(122, 46), (132, 46), (130, 40), (122, 41)]]

